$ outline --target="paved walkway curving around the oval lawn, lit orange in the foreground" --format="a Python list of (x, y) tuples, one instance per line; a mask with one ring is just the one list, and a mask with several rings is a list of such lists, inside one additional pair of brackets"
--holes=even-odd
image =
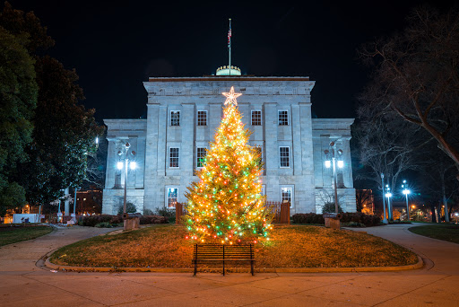
[(459, 244), (421, 237), (413, 225), (367, 232), (414, 250), (425, 268), (387, 273), (53, 273), (38, 260), (109, 230), (73, 227), (0, 248), (1, 306), (459, 306)]

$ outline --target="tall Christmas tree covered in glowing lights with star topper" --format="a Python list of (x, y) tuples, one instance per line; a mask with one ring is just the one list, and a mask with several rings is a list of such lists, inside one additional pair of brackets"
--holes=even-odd
[(244, 128), (235, 93), (227, 97), (221, 126), (186, 193), (187, 238), (201, 242), (234, 244), (269, 240), (273, 215), (264, 207), (261, 195), (260, 151), (247, 145), (250, 131)]

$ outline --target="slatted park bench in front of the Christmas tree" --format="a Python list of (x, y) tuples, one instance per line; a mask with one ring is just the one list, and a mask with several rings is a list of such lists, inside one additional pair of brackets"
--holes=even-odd
[(229, 261), (247, 261), (250, 262), (250, 272), (254, 275), (254, 246), (246, 245), (223, 245), (223, 244), (195, 244), (193, 252), (193, 263), (195, 264), (195, 274), (197, 273), (197, 264), (204, 262), (223, 263), (223, 275), (225, 275), (225, 262)]

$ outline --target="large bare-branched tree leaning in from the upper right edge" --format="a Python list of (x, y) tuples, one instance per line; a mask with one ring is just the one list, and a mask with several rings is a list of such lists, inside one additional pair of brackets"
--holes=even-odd
[(409, 26), (360, 50), (374, 66), (361, 110), (420, 127), (455, 162), (459, 180), (459, 13), (420, 7)]

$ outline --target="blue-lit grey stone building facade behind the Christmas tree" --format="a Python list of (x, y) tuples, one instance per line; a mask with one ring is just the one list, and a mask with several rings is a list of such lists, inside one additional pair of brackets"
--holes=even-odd
[(139, 212), (186, 202), (186, 187), (197, 180), (199, 158), (220, 126), (221, 92), (234, 86), (242, 121), (260, 147), (264, 162), (264, 193), (269, 201), (289, 200), (290, 213), (322, 211), (332, 200), (333, 171), (325, 168), (331, 141), (342, 149), (344, 167), (337, 187), (344, 211), (356, 210), (352, 185), (351, 118), (312, 118), (307, 77), (204, 76), (150, 78), (147, 119), (105, 119), (108, 127), (104, 214), (123, 204), (125, 176), (117, 170), (118, 151), (129, 142), (137, 168), (127, 174), (127, 201)]

